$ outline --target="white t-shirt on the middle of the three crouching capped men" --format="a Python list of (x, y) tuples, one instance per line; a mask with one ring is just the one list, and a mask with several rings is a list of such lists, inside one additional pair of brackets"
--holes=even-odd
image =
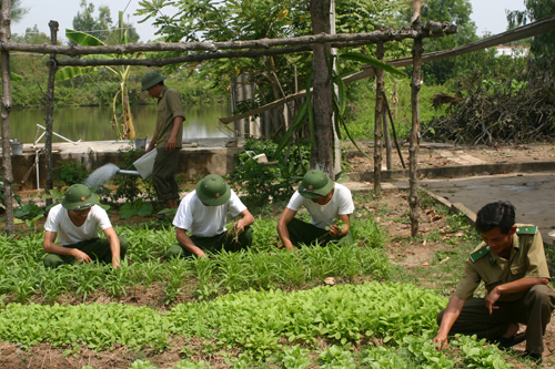
[(230, 199), (219, 206), (206, 206), (201, 203), (196, 191), (188, 194), (179, 204), (178, 213), (173, 218), (173, 225), (178, 228), (186, 229), (192, 236), (213, 237), (225, 232), (225, 221), (228, 213), (235, 217), (241, 214), (246, 206), (243, 205), (239, 196), (231, 191)]

